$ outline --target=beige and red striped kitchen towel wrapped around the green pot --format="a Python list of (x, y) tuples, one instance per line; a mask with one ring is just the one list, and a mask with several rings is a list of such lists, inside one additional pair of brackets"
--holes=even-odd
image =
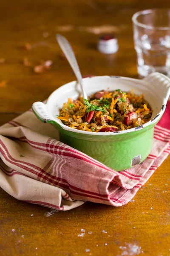
[(170, 102), (140, 165), (116, 172), (59, 142), (30, 110), (0, 127), (0, 186), (14, 198), (59, 210), (85, 201), (122, 206), (170, 154)]

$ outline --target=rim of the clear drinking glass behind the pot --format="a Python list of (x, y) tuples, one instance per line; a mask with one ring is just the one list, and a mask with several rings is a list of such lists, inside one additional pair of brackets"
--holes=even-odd
[(140, 26), (144, 29), (169, 30), (170, 26), (148, 26), (148, 25), (145, 25), (144, 23), (137, 21), (137, 17), (139, 17), (139, 15), (141, 14), (146, 15), (146, 14), (152, 13), (153, 11), (161, 11), (161, 10), (170, 12), (170, 9), (166, 9), (166, 8), (154, 8), (154, 9), (142, 10), (133, 14), (132, 21), (135, 25)]

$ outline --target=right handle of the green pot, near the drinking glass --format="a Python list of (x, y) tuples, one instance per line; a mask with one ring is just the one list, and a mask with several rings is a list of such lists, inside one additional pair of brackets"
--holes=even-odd
[(170, 96), (170, 79), (158, 72), (149, 74), (143, 78), (164, 99), (165, 104)]

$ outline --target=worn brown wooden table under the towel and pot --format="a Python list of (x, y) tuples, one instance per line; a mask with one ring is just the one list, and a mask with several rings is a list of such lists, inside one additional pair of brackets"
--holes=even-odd
[[(1, 0), (0, 58), (6, 61), (0, 64), (0, 81), (8, 82), (0, 87), (0, 125), (75, 79), (68, 62), (60, 56), (56, 33), (73, 45), (83, 75), (138, 77), (131, 17), (140, 9), (161, 6), (170, 8), (170, 2)], [(99, 29), (110, 29), (117, 35), (116, 54), (97, 52), (99, 35), (95, 33)], [(32, 49), (19, 49), (21, 43), (31, 44)], [(24, 57), (31, 66), (23, 64)], [(52, 60), (51, 70), (36, 74), (33, 67), (41, 60)], [(0, 256), (169, 256), (169, 187), (170, 157), (134, 200), (119, 208), (87, 202), (46, 217), (50, 209), (18, 201), (1, 189)], [(82, 228), (85, 236), (79, 237)]]

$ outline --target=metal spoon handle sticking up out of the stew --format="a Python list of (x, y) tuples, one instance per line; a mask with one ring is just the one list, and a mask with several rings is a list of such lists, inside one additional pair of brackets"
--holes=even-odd
[(56, 39), (57, 39), (57, 42), (58, 42), (60, 48), (64, 52), (65, 57), (67, 58), (68, 62), (70, 63), (70, 66), (72, 67), (75, 76), (77, 77), (77, 81), (79, 82), (81, 89), (82, 89), (83, 98), (88, 99), (88, 96), (83, 87), (82, 75), (79, 70), (79, 65), (77, 63), (77, 59), (74, 55), (74, 52), (73, 52), (73, 49), (72, 49), (70, 43), (64, 36), (59, 35), (59, 34), (56, 35)]

